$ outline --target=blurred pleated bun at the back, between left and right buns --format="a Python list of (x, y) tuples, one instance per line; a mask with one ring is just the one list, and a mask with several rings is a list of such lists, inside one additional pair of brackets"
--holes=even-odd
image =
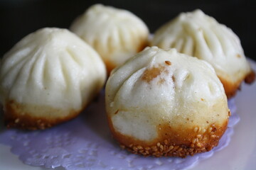
[(110, 74), (114, 67), (147, 45), (149, 30), (133, 13), (96, 4), (78, 17), (70, 27), (100, 54)]

